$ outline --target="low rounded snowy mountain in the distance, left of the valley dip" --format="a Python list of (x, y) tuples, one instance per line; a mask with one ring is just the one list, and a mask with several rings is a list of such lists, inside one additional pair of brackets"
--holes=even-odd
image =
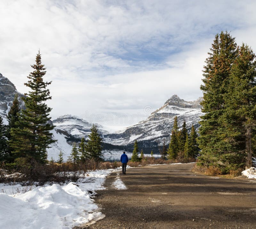
[[(53, 120), (53, 125), (56, 126), (56, 129), (67, 131), (69, 135), (72, 135), (76, 138), (82, 138), (88, 136), (91, 133), (92, 123), (85, 121), (78, 116), (66, 114), (58, 117)], [(98, 125), (100, 134), (108, 134), (107, 130), (103, 130), (101, 125)]]

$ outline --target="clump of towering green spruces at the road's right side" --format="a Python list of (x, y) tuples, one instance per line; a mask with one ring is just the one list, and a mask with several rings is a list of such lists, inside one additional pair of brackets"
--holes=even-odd
[(255, 54), (226, 31), (215, 36), (205, 63), (198, 165), (222, 173), (250, 168), (256, 142)]

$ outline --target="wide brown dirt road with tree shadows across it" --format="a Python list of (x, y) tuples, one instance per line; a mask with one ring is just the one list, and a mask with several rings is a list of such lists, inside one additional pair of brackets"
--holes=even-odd
[(193, 165), (128, 169), (126, 190), (112, 186), (112, 173), (95, 199), (106, 217), (81, 228), (256, 228), (255, 180), (204, 176)]

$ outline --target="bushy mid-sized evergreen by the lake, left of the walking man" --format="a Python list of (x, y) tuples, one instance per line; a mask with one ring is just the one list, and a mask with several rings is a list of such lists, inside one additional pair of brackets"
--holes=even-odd
[(98, 133), (98, 128), (95, 124), (92, 125), (91, 133), (88, 135), (89, 140), (85, 145), (85, 151), (88, 152), (89, 157), (95, 161), (102, 161), (102, 139)]

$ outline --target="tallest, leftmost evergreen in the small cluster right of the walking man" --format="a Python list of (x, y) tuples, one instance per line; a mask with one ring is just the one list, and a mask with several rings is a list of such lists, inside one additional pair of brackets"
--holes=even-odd
[(179, 152), (179, 143), (178, 143), (178, 120), (177, 116), (174, 117), (171, 140), (169, 148), (167, 151), (168, 159), (176, 159)]

